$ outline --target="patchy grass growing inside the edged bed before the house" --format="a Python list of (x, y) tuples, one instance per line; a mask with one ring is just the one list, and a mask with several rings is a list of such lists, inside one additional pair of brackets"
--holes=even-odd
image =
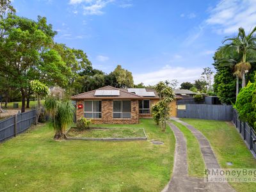
[(73, 138), (145, 138), (141, 127), (122, 127), (122, 128), (91, 128), (79, 130), (72, 128), (68, 131), (68, 137)]

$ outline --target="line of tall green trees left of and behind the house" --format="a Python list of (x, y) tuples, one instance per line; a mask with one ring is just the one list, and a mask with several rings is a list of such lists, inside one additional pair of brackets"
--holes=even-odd
[(97, 70), (83, 50), (54, 42), (56, 35), (45, 17), (19, 17), (10, 0), (0, 1), (0, 95), (5, 106), (22, 100), (21, 111), (29, 108), (29, 82), (35, 79), (59, 86), (69, 96), (106, 85), (134, 86), (132, 73), (121, 65), (109, 74)]

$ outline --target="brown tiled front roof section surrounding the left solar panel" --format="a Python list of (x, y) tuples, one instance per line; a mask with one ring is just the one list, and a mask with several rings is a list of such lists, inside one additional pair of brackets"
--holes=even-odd
[(71, 99), (73, 99), (73, 100), (79, 100), (79, 99), (143, 99), (143, 97), (141, 97), (139, 95), (136, 95), (134, 93), (129, 93), (129, 92), (125, 91), (124, 89), (114, 88), (113, 86), (104, 86), (97, 90), (120, 90), (120, 95), (95, 96), (94, 93), (96, 92), (96, 90), (92, 90), (90, 92), (84, 92), (79, 95), (74, 95), (71, 97)]

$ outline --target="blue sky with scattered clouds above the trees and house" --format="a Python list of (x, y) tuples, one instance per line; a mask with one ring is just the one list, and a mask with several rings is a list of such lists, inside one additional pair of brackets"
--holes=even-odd
[(256, 0), (13, 0), (17, 14), (47, 17), (56, 42), (83, 49), (93, 67), (130, 70), (134, 83), (179, 83), (211, 67), (225, 36), (256, 25)]

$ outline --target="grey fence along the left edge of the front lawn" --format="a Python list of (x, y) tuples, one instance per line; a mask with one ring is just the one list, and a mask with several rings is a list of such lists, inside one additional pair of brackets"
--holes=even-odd
[(31, 124), (35, 123), (36, 110), (18, 113), (0, 121), (0, 142), (8, 140), (17, 134), (26, 131)]

